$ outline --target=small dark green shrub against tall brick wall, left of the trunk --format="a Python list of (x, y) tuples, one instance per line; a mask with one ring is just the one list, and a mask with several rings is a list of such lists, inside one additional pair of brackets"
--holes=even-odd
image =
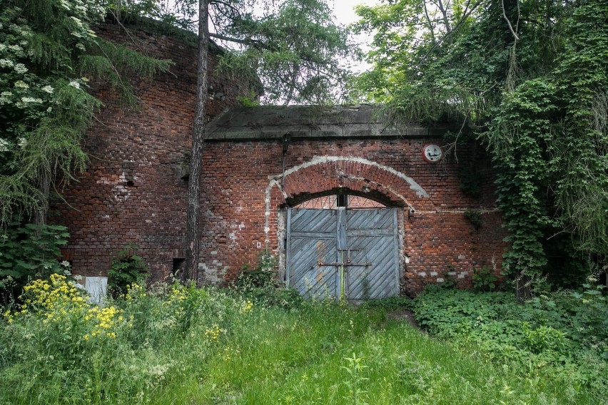
[(146, 263), (135, 255), (137, 247), (125, 247), (112, 260), (108, 270), (108, 292), (113, 298), (124, 296), (132, 284), (141, 284), (146, 278)]

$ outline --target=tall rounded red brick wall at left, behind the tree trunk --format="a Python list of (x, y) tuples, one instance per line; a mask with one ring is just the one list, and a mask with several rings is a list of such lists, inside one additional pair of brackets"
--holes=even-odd
[[(67, 225), (71, 238), (64, 257), (74, 272), (106, 275), (116, 253), (138, 246), (154, 279), (171, 272), (173, 258), (183, 257), (187, 181), (181, 168), (191, 148), (196, 98), (196, 49), (166, 36), (133, 31), (116, 25), (96, 29), (99, 36), (127, 43), (174, 65), (152, 80), (137, 80), (138, 107), (125, 106), (107, 85), (92, 85), (105, 107), (86, 136), (91, 157), (86, 173), (56, 202), (55, 222)], [(134, 41), (134, 42), (133, 42)], [(214, 72), (217, 56), (210, 54)], [(248, 83), (229, 73), (211, 73), (209, 86), (219, 98), (208, 100), (208, 118), (235, 106), (248, 96)]]

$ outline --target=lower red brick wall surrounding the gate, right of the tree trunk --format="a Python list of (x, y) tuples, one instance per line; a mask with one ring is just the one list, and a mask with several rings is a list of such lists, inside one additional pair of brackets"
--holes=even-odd
[[(447, 277), (471, 287), (472, 268), (482, 265), (495, 265), (499, 272), (506, 234), (494, 205), (492, 179), (485, 179), (480, 198), (467, 197), (453, 159), (433, 164), (422, 158), (423, 145), (431, 141), (440, 142), (292, 140), (283, 181), (278, 140), (208, 142), (203, 184), (208, 237), (201, 244), (201, 270), (210, 281), (232, 279), (265, 248), (283, 255), (286, 206), (330, 190), (350, 190), (402, 207), (403, 292), (414, 294)], [(467, 150), (459, 150), (459, 159), (467, 160)], [(481, 212), (478, 230), (465, 217), (469, 210)]]

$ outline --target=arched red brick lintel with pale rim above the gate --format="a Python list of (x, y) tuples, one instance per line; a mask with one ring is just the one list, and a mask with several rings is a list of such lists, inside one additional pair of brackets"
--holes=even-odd
[(432, 204), (427, 192), (409, 176), (372, 160), (345, 156), (320, 156), (285, 170), (278, 179), (285, 205), (348, 190), (390, 206), (415, 209)]

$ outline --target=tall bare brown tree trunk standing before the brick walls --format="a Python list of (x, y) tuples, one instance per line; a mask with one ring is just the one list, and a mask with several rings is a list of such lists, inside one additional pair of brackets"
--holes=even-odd
[(207, 61), (209, 53), (209, 2), (198, 0), (198, 70), (196, 106), (192, 128), (192, 153), (188, 178), (188, 207), (186, 208), (186, 262), (182, 280), (198, 284), (198, 240), (201, 222), (201, 178), (203, 146), (207, 116)]

